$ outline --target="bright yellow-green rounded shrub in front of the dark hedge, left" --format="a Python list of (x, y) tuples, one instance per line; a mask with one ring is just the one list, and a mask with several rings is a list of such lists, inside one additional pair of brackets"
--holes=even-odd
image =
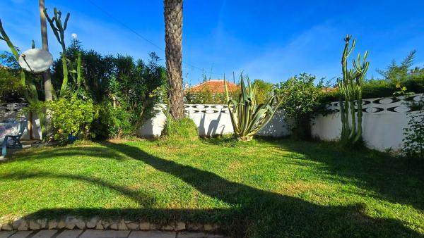
[(98, 108), (92, 99), (80, 99), (76, 94), (48, 104), (52, 139), (66, 142), (68, 135), (90, 139), (90, 125), (98, 118)]

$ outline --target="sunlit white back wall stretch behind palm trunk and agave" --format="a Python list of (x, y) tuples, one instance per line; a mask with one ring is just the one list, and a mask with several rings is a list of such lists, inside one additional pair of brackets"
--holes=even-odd
[[(186, 115), (194, 120), (200, 136), (213, 136), (216, 134), (230, 134), (233, 132), (228, 106), (220, 104), (186, 104)], [(155, 117), (147, 120), (139, 129), (141, 137), (158, 137), (165, 125), (165, 114), (160, 111)], [(281, 111), (276, 112), (274, 118), (266, 127), (259, 131), (266, 137), (284, 137), (290, 134), (287, 123)]]

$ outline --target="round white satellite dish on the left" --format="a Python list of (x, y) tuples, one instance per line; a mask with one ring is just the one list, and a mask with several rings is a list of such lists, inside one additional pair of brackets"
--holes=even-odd
[(24, 70), (40, 73), (53, 64), (53, 56), (44, 49), (28, 49), (19, 56), (19, 65)]

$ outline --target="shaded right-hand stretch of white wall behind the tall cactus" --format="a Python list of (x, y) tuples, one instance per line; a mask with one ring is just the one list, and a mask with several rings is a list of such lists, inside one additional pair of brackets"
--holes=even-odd
[[(379, 151), (399, 151), (404, 138), (404, 128), (408, 125), (409, 108), (406, 100), (419, 101), (423, 94), (375, 99), (363, 99), (363, 139), (367, 147)], [(326, 116), (318, 116), (312, 121), (312, 136), (323, 140), (340, 139), (341, 118), (338, 102), (329, 104), (335, 111)], [(418, 113), (418, 112), (411, 112)]]

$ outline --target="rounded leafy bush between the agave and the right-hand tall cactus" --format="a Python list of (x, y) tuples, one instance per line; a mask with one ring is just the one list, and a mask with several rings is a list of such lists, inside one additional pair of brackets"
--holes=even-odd
[(296, 139), (310, 139), (310, 120), (314, 112), (323, 107), (320, 100), (323, 82), (315, 85), (316, 77), (301, 73), (274, 86), (278, 95), (285, 96), (281, 102), (285, 118), (294, 120), (293, 136)]

